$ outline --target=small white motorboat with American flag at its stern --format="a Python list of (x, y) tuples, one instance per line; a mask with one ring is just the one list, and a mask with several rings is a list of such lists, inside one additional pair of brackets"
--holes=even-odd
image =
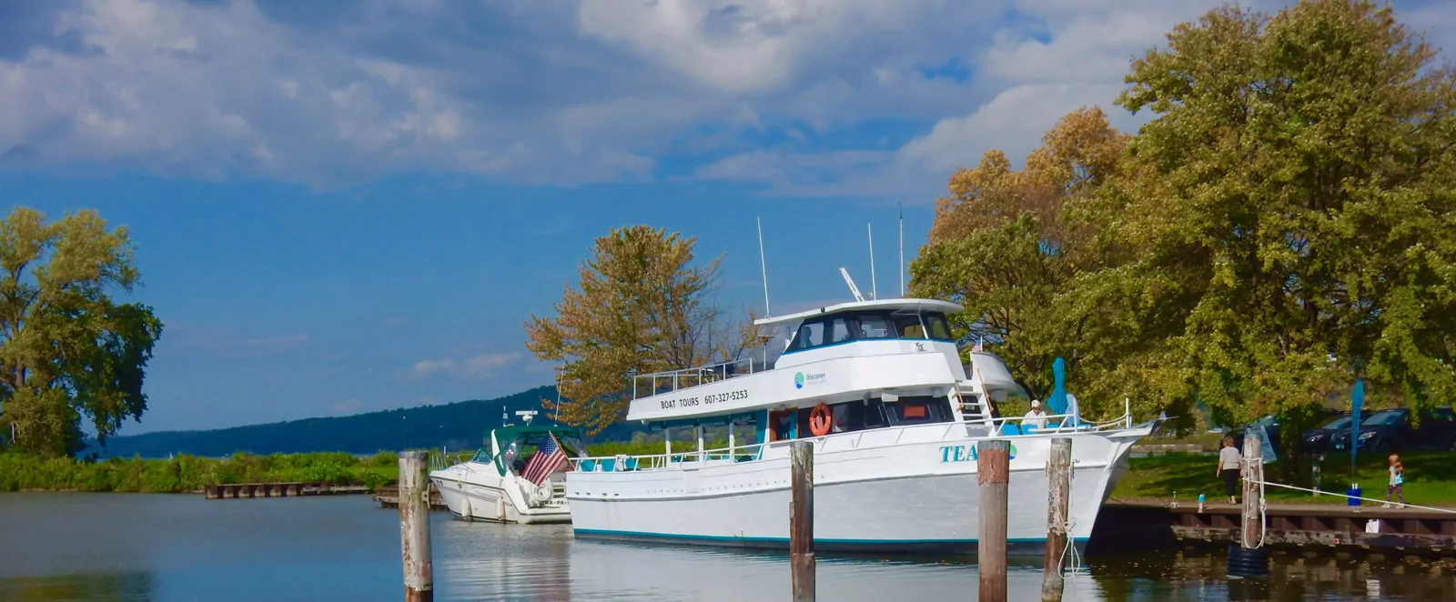
[[(549, 462), (553, 445), (562, 448), (562, 458)], [(473, 458), (432, 470), (430, 480), (450, 512), (467, 521), (571, 522), (565, 458), (582, 449), (571, 428), (502, 426), (491, 430)], [(533, 483), (527, 477), (537, 468), (531, 464), (537, 455), (545, 478)]]

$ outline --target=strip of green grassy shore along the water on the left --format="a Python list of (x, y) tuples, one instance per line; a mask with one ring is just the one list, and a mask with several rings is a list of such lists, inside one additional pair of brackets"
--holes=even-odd
[(230, 458), (178, 455), (172, 459), (111, 458), (87, 462), (71, 458), (41, 459), (0, 454), (0, 491), (199, 491), (214, 483), (364, 484), (379, 487), (399, 474), (397, 455), (351, 454), (234, 454)]

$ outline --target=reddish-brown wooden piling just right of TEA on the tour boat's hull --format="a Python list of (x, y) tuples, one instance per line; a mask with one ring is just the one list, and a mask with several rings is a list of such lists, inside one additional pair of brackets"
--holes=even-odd
[(980, 537), (977, 564), (980, 602), (1006, 602), (1006, 489), (1010, 483), (1010, 442), (987, 439), (976, 444), (980, 484)]

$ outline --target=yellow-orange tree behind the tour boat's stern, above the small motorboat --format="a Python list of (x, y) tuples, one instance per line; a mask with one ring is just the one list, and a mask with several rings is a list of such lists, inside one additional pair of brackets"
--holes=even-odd
[(722, 257), (693, 265), (696, 238), (661, 228), (613, 228), (596, 240), (581, 281), (526, 321), (526, 346), (561, 362), (561, 422), (597, 433), (623, 417), (632, 374), (692, 368), (735, 356), (744, 337), (711, 298)]

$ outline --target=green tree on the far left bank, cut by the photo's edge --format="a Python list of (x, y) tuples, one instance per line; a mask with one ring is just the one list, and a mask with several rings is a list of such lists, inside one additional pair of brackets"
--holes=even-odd
[(140, 281), (125, 227), (95, 211), (47, 222), (16, 208), (0, 221), (0, 425), (16, 448), (64, 455), (89, 419), (105, 444), (147, 409), (141, 393), (162, 321), (109, 291)]

